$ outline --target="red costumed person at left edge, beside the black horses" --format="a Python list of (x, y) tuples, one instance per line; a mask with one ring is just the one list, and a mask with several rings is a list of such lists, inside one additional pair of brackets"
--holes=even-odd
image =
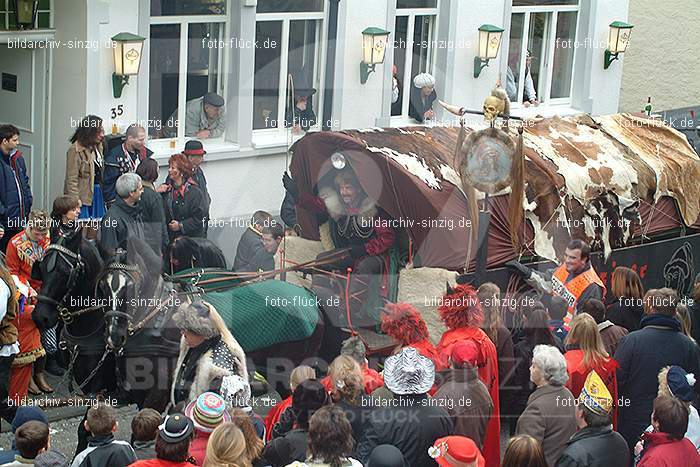
[(31, 278), (32, 266), (35, 261), (44, 256), (49, 242), (48, 232), (43, 239), (34, 242), (25, 229), (12, 237), (7, 245), (7, 269), (12, 274), (18, 293), (24, 297), (23, 300), (19, 299), (19, 313), (14, 321), (18, 334), (19, 353), (12, 361), (9, 397), (15, 401), (21, 401), (27, 397), (33, 363), (46, 355), (41, 346), (39, 329), (32, 320), (34, 305), (29, 304), (28, 301), (29, 297), (35, 296), (41, 287), (41, 281)]

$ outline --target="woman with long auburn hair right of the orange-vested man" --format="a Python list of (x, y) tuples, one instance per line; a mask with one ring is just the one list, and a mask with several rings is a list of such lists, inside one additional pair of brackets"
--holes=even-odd
[(613, 300), (608, 303), (608, 319), (629, 332), (639, 329), (644, 315), (644, 286), (636, 271), (618, 266), (612, 273)]

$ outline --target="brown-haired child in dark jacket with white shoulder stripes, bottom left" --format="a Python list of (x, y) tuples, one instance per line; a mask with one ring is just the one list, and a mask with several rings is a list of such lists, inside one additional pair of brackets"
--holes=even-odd
[(87, 449), (73, 460), (72, 467), (113, 467), (136, 462), (134, 449), (126, 441), (114, 438), (117, 431), (114, 408), (99, 402), (87, 412), (85, 429), (92, 434)]

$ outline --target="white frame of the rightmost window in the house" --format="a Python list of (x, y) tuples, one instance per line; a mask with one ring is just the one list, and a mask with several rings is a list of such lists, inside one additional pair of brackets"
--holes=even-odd
[[(520, 44), (520, 64), (519, 64), (519, 70), (518, 70), (518, 98), (517, 102), (511, 102), (511, 108), (513, 109), (521, 109), (525, 108), (523, 105), (523, 94), (525, 93), (525, 53), (527, 51), (527, 38), (530, 33), (530, 16), (533, 13), (549, 13), (549, 24), (547, 25), (547, 35), (548, 35), (548, 40), (549, 43), (547, 44), (547, 58), (548, 58), (548, 63), (541, 63), (541, 71), (540, 71), (540, 76), (542, 76), (542, 71), (545, 72), (544, 78), (545, 78), (545, 83), (544, 83), (544, 92), (543, 94), (539, 94), (538, 96), (540, 97), (540, 105), (543, 106), (561, 106), (561, 105), (571, 105), (571, 96), (573, 94), (574, 90), (574, 82), (575, 82), (575, 75), (574, 75), (574, 70), (573, 67), (576, 64), (576, 55), (578, 53), (578, 47), (574, 46), (574, 55), (571, 60), (571, 83), (569, 85), (569, 97), (557, 97), (552, 99), (551, 93), (552, 93), (552, 77), (554, 74), (554, 51), (555, 51), (555, 46), (556, 46), (556, 36), (557, 36), (557, 22), (559, 20), (559, 13), (566, 13), (566, 12), (575, 12), (576, 13), (576, 29), (574, 31), (574, 44), (578, 41), (578, 35), (579, 35), (579, 30), (580, 30), (580, 18), (581, 18), (581, 2), (579, 0), (579, 3), (577, 5), (540, 5), (540, 6), (513, 6), (511, 7), (511, 12), (510, 12), (510, 20), (509, 24), (510, 26), (510, 31), (512, 31), (512, 18), (513, 15), (522, 13), (524, 14), (523, 17), (523, 36)], [(508, 46), (510, 47), (510, 31), (508, 33), (508, 41), (509, 44)], [(510, 52), (510, 51), (508, 51)], [(506, 69), (508, 67), (508, 54), (504, 54), (505, 60), (503, 61), (504, 66), (502, 69), (502, 75), (505, 76), (506, 74)], [(541, 97), (542, 95), (547, 96), (546, 100), (542, 101)]]

